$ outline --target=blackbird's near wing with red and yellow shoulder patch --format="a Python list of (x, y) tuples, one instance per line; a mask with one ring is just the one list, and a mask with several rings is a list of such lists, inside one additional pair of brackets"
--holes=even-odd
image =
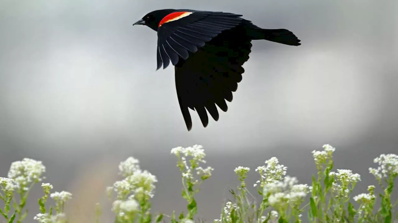
[(157, 69), (162, 65), (166, 68), (170, 61), (176, 65), (180, 58), (187, 60), (222, 31), (239, 25), (240, 16), (194, 10), (176, 10), (166, 15), (158, 27)]

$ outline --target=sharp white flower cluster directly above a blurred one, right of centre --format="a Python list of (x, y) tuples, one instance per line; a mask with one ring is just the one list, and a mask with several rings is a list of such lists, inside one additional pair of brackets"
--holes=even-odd
[(286, 175), (287, 167), (279, 164), (276, 157), (265, 161), (265, 163), (267, 164), (266, 166), (259, 166), (256, 168), (256, 172), (261, 175), (261, 179), (257, 181), (254, 186), (257, 186), (257, 183), (260, 183), (260, 186), (263, 187), (269, 183), (281, 181)]

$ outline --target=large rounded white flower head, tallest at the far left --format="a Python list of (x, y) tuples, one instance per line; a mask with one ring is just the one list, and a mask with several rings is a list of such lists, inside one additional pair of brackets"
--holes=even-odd
[(8, 178), (14, 179), (17, 188), (25, 191), (30, 183), (42, 181), (42, 175), (45, 171), (46, 167), (41, 161), (23, 158), (22, 161), (11, 163)]

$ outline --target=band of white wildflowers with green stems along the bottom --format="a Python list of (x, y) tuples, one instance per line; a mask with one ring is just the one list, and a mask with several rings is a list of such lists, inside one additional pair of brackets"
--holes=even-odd
[[(398, 176), (398, 156), (381, 154), (375, 158), (374, 166), (369, 168), (378, 181), (382, 191), (376, 194), (376, 186), (368, 186), (362, 194), (352, 194), (361, 176), (351, 170), (337, 169), (333, 165), (335, 148), (324, 145), (323, 150), (313, 151), (316, 171), (312, 183), (298, 184), (295, 177), (287, 175), (287, 167), (280, 164), (276, 157), (265, 161), (255, 171), (259, 175), (256, 182), (246, 182), (248, 167), (236, 167), (237, 188), (230, 190), (231, 200), (226, 200), (219, 219), (198, 219), (198, 207), (195, 196), (204, 181), (211, 180), (213, 168), (205, 165), (205, 152), (202, 146), (177, 147), (171, 154), (177, 158), (177, 168), (181, 171), (181, 199), (187, 201), (187, 210), (182, 213), (153, 213), (151, 198), (158, 183), (156, 176), (142, 170), (139, 160), (127, 158), (119, 165), (122, 180), (104, 188), (112, 202), (115, 223), (300, 223), (300, 222), (375, 222), (391, 223), (398, 220), (398, 200), (392, 200), (394, 181)], [(232, 170), (231, 170), (232, 171)], [(22, 223), (27, 220), (25, 204), (29, 192), (41, 183), (43, 196), (37, 201), (34, 219), (39, 223), (71, 223), (64, 207), (72, 199), (70, 192), (53, 192), (53, 186), (45, 183), (45, 166), (41, 161), (25, 158), (11, 164), (7, 177), (0, 177), (0, 222)], [(254, 186), (261, 199), (256, 199), (248, 187)], [(47, 202), (52, 199), (55, 205)], [(101, 205), (95, 206), (100, 222)], [(376, 208), (379, 207), (379, 208)]]

